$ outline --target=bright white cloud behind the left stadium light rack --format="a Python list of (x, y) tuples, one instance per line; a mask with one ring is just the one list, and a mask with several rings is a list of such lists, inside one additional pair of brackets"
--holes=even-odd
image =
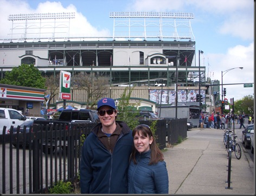
[[(95, 35), (109, 36), (111, 33), (108, 29), (97, 29), (90, 24), (86, 17), (78, 12), (73, 4), (69, 4), (66, 8), (62, 6), (61, 2), (43, 2), (39, 3), (36, 9), (32, 9), (29, 4), (23, 1), (5, 1), (1, 0), (1, 32), (0, 37), (6, 38), (10, 34), (11, 21), (7, 18), (10, 14), (36, 14), (36, 13), (60, 13), (60, 12), (75, 12), (75, 18), (71, 19), (69, 35), (75, 37), (86, 37)], [(3, 5), (3, 6), (2, 6)], [(4, 19), (6, 18), (6, 19)], [(67, 36), (68, 36), (68, 30)]]

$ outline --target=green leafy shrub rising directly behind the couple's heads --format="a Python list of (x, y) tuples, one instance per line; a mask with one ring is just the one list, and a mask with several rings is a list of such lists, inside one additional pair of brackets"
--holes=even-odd
[(135, 128), (139, 125), (138, 118), (136, 116), (139, 115), (139, 111), (137, 110), (137, 106), (139, 106), (140, 102), (130, 103), (129, 100), (131, 98), (131, 93), (134, 87), (129, 88), (126, 87), (124, 89), (121, 98), (118, 103), (118, 119), (120, 121), (124, 121), (130, 127), (130, 129)]

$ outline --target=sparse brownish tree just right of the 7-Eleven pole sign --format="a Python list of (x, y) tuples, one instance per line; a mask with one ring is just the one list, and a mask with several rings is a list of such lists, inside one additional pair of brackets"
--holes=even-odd
[(106, 77), (94, 75), (94, 73), (87, 74), (80, 72), (72, 76), (72, 84), (74, 89), (84, 89), (87, 92), (86, 108), (97, 106), (97, 102), (101, 97), (107, 95), (108, 79)]

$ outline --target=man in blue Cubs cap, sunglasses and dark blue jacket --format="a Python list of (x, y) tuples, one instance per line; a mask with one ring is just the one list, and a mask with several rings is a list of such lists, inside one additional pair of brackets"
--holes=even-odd
[(127, 194), (132, 131), (125, 122), (116, 121), (113, 99), (99, 100), (97, 110), (100, 123), (92, 128), (82, 146), (81, 193)]

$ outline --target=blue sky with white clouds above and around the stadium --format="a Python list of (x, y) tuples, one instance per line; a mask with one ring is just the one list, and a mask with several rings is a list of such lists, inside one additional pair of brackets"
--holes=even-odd
[[(223, 84), (254, 82), (254, 1), (252, 0), (0, 0), (0, 40), (10, 33), (10, 14), (75, 12), (70, 35), (112, 35), (110, 12), (155, 11), (193, 13), (191, 27), (196, 58), (202, 50), (201, 66), (206, 76)], [(196, 60), (196, 62), (198, 62)], [(198, 66), (198, 65), (196, 65)], [(253, 84), (254, 87), (254, 84)], [(253, 95), (244, 84), (226, 85), (228, 101)]]

